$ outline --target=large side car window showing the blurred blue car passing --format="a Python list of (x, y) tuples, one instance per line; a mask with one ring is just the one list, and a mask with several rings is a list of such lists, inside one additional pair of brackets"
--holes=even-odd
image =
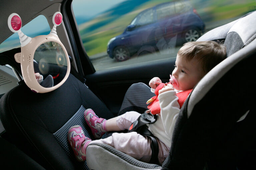
[(256, 5), (254, 0), (73, 0), (72, 8), (85, 51), (95, 70), (102, 70), (176, 57), (184, 43)]

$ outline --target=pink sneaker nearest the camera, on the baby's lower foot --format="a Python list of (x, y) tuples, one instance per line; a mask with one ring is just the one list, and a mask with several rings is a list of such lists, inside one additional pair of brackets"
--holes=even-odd
[(76, 159), (81, 162), (86, 160), (86, 148), (91, 139), (84, 135), (83, 129), (79, 126), (72, 126), (68, 130), (68, 142), (70, 143)]

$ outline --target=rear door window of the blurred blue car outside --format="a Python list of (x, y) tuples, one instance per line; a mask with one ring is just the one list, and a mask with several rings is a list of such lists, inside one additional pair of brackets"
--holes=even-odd
[(157, 19), (164, 19), (167, 17), (170, 17), (172, 15), (175, 15), (175, 8), (174, 8), (174, 3), (165, 3), (165, 4), (161, 4), (158, 5), (156, 8), (156, 12), (157, 12)]

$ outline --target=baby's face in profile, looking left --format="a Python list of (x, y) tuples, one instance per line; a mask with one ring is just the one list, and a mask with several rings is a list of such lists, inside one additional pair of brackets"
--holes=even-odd
[(175, 69), (172, 76), (178, 81), (179, 87), (177, 90), (192, 89), (205, 74), (202, 71), (200, 62), (196, 59), (187, 61), (177, 55)]

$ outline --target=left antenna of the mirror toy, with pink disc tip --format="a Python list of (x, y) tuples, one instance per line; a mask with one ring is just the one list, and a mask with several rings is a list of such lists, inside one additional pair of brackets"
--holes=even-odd
[(8, 27), (12, 32), (19, 34), (21, 46), (25, 46), (31, 41), (31, 38), (24, 35), (21, 32), (21, 30), (20, 30), (21, 26), (22, 26), (22, 22), (21, 22), (20, 16), (16, 13), (12, 13), (8, 17)]

